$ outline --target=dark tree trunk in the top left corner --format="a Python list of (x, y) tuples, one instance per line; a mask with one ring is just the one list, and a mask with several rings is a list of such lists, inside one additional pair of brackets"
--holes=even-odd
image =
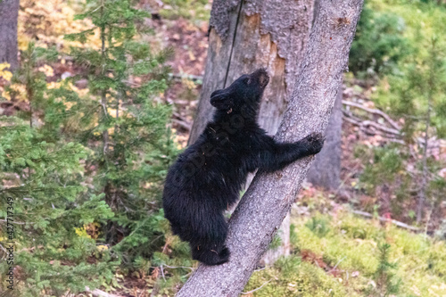
[(17, 60), (17, 17), (19, 0), (0, 1), (0, 63), (11, 64), (10, 70), (19, 67)]

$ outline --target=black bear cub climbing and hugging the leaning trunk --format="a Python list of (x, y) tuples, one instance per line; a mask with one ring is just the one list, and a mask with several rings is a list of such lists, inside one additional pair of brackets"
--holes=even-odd
[(213, 92), (213, 120), (169, 169), (162, 198), (165, 217), (173, 233), (190, 243), (193, 259), (204, 264), (229, 259), (223, 212), (239, 198), (248, 172), (283, 169), (318, 153), (324, 144), (315, 133), (293, 144), (266, 135), (257, 115), (268, 81), (267, 71), (260, 69)]

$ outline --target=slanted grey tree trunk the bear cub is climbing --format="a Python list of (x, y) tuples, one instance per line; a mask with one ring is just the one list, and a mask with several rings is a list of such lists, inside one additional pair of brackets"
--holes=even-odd
[[(335, 97), (347, 68), (363, 0), (321, 1), (301, 70), (277, 140), (293, 142), (326, 129)], [(182, 296), (237, 296), (249, 280), (271, 236), (290, 210), (312, 157), (252, 181), (229, 220), (230, 260), (201, 265), (178, 293)]]

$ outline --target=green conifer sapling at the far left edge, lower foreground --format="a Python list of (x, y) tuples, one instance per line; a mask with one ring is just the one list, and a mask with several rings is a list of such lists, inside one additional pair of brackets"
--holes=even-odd
[[(87, 186), (87, 148), (66, 141), (61, 133), (67, 112), (60, 95), (73, 94), (62, 86), (49, 89), (45, 73), (36, 67), (53, 54), (30, 43), (7, 88), (12, 99), (28, 98), (35, 116), (25, 111), (0, 117), (0, 199), (12, 198), (8, 217), (14, 227), (15, 272), (21, 271), (15, 274), (12, 293), (25, 297), (82, 292), (86, 285), (109, 283), (118, 265), (108, 247), (96, 241), (98, 234), (87, 234), (114, 213), (104, 195)], [(31, 119), (38, 125), (31, 125)], [(5, 207), (0, 217), (6, 218)], [(6, 230), (3, 220), (1, 227)], [(2, 234), (0, 246), (7, 246), (6, 241)], [(7, 269), (2, 261), (1, 273), (6, 275)]]

